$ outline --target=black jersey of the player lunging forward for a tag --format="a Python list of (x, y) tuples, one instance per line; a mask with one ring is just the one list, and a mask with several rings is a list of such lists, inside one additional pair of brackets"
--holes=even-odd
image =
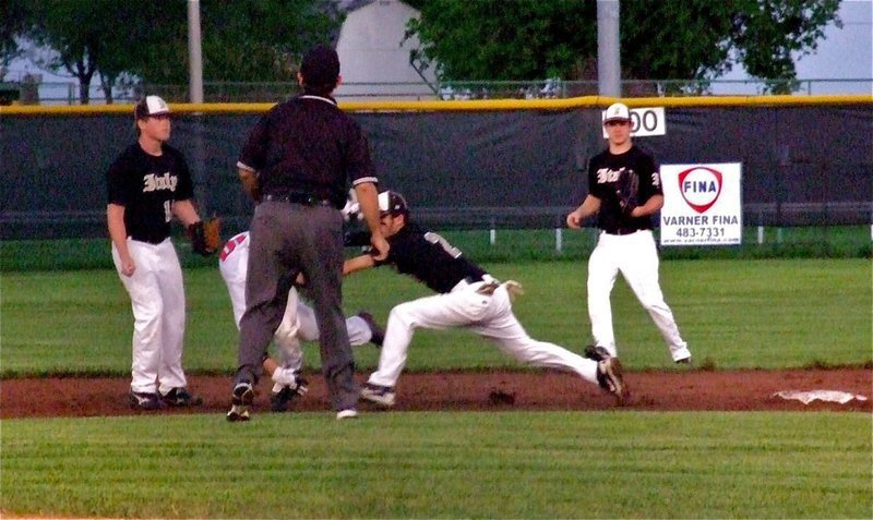
[(376, 265), (394, 265), (398, 273), (414, 276), (436, 292), (451, 292), (461, 280), (480, 280), (486, 275), (461, 250), (412, 222), (407, 222), (387, 242), (388, 256), (376, 261)]

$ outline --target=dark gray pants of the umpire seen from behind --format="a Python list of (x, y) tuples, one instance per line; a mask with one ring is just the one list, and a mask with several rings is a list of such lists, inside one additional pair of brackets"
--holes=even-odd
[(288, 289), (306, 277), (319, 324), (321, 363), (336, 410), (358, 401), (355, 360), (343, 314), (343, 216), (331, 206), (263, 202), (250, 229), (246, 313), (240, 319), (234, 384), (256, 384), (270, 341), (282, 322)]

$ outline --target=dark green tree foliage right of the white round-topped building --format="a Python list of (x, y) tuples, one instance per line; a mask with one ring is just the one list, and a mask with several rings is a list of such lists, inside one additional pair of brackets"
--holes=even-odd
[[(589, 0), (408, 0), (421, 12), (410, 60), (442, 80), (586, 78), (597, 59)], [(710, 80), (743, 63), (778, 85), (796, 77), (792, 52), (815, 50), (839, 0), (622, 0), (623, 76)], [(590, 78), (590, 77), (587, 77)]]

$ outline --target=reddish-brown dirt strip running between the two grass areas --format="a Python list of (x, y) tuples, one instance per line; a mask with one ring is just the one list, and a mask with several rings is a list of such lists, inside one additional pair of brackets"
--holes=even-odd
[[(328, 411), (324, 379), (308, 374), (310, 391), (292, 410)], [(363, 376), (361, 376), (363, 377)], [(701, 370), (632, 372), (625, 374), (631, 388), (631, 410), (834, 410), (873, 411), (870, 398), (873, 371), (862, 368), (736, 371)], [(129, 415), (128, 378), (16, 378), (0, 384), (0, 419), (36, 416)], [(229, 376), (191, 376), (189, 388), (204, 398), (194, 409), (147, 413), (224, 413), (230, 397)], [(255, 412), (268, 412), (271, 382), (262, 380)], [(774, 394), (781, 390), (839, 390), (860, 394), (866, 401), (845, 404), (813, 401), (803, 404)], [(361, 404), (361, 410), (371, 407)], [(445, 372), (404, 374), (397, 387), (394, 410), (610, 410), (611, 396), (578, 377), (559, 372)]]

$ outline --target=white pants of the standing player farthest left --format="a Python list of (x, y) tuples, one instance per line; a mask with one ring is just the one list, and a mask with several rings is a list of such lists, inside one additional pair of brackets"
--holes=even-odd
[(132, 276), (121, 274), (112, 244), (116, 271), (130, 294), (133, 310), (133, 363), (130, 388), (135, 392), (166, 394), (187, 385), (182, 371), (184, 286), (179, 257), (170, 239), (159, 244), (128, 239), (136, 264)]

